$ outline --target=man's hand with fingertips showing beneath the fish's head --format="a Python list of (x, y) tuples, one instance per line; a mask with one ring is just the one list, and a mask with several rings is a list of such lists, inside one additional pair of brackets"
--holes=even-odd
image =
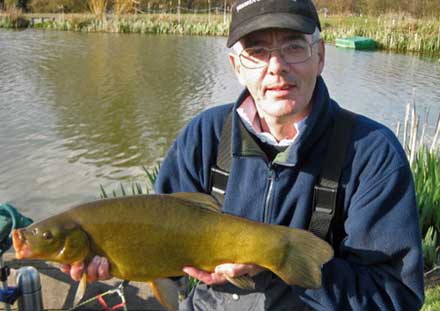
[[(80, 281), (84, 273), (84, 262), (74, 263), (72, 265), (61, 265), (60, 270), (70, 274), (72, 279)], [(107, 258), (95, 256), (87, 266), (87, 281), (105, 281), (110, 279), (110, 265)]]

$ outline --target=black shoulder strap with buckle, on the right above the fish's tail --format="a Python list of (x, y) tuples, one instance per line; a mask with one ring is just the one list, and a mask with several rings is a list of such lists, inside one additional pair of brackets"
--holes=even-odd
[[(345, 109), (341, 109), (336, 116), (321, 173), (314, 188), (309, 230), (322, 239), (329, 238), (330, 224), (337, 214), (339, 179), (355, 118), (356, 114)], [(333, 244), (333, 241), (330, 242)]]

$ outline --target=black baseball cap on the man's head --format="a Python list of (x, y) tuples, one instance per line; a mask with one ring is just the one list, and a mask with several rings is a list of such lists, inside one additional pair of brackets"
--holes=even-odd
[(237, 0), (226, 46), (230, 48), (251, 32), (283, 28), (312, 34), (321, 30), (318, 13), (311, 0)]

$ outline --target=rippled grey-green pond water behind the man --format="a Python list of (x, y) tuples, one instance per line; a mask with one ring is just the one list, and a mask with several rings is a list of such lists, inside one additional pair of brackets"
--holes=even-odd
[[(225, 40), (0, 30), (0, 202), (40, 219), (144, 182), (192, 116), (240, 93)], [(326, 48), (336, 101), (392, 129), (415, 101), (432, 137), (438, 63)]]

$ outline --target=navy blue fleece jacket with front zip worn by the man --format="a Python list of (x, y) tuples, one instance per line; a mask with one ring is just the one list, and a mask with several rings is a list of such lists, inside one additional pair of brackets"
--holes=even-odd
[[(245, 91), (235, 104), (210, 108), (189, 123), (162, 164), (156, 191), (209, 192), (210, 167), (216, 160), (225, 117), (232, 109), (233, 162), (223, 211), (307, 228), (313, 186), (325, 150), (333, 143), (329, 127), (340, 107), (319, 77), (305, 131), (269, 161), (235, 112), (247, 96)], [(264, 297), (259, 298), (264, 302), (249, 310), (299, 310), (299, 305), (325, 311), (421, 307), (423, 260), (414, 185), (406, 155), (389, 129), (357, 116), (341, 184), (338, 204), (344, 211), (340, 226), (345, 238), (337, 256), (322, 269), (322, 287), (287, 286), (272, 275), (257, 286), (255, 295)], [(229, 310), (225, 307), (228, 300), (218, 298), (228, 294), (230, 290), (221, 286), (200, 285), (185, 310)]]

